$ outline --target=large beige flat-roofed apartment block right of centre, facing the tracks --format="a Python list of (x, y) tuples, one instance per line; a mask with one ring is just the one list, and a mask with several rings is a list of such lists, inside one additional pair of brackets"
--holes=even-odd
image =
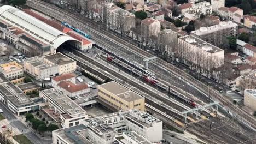
[(178, 56), (185, 63), (200, 66), (205, 70), (224, 64), (224, 50), (193, 35), (178, 38)]

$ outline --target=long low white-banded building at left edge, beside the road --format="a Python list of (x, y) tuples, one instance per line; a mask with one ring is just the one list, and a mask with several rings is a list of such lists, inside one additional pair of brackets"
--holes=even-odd
[(0, 74), (0, 100), (7, 105), (11, 112), (23, 115), (39, 110), (39, 103), (32, 101), (20, 88)]

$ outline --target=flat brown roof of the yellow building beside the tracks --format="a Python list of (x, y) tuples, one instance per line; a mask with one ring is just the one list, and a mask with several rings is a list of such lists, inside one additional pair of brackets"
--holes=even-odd
[(143, 97), (141, 97), (141, 95), (138, 95), (137, 93), (131, 91), (130, 89), (120, 85), (119, 83), (117, 83), (115, 81), (104, 83), (102, 85), (98, 85), (98, 87), (101, 87), (101, 88), (105, 89), (106, 91), (113, 93), (117, 97), (119, 97), (127, 102), (144, 99)]

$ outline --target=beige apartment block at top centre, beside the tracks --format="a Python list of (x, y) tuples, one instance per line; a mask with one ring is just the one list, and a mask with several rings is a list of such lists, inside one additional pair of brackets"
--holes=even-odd
[(135, 15), (119, 8), (114, 3), (103, 3), (99, 5), (101, 20), (111, 28), (119, 29), (122, 32), (129, 32), (135, 27)]

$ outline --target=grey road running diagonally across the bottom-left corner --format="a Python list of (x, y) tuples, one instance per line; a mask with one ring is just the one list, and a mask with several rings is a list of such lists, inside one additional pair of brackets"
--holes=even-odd
[(11, 112), (6, 105), (0, 102), (0, 107), (3, 110), (2, 115), (10, 122), (10, 124), (14, 127), (19, 129), (20, 131), (23, 130), (23, 134), (27, 136), (35, 144), (49, 144), (51, 140), (44, 140), (38, 137), (36, 134), (33, 133), (31, 129), (29, 129), (24, 123), (19, 121), (19, 119)]

